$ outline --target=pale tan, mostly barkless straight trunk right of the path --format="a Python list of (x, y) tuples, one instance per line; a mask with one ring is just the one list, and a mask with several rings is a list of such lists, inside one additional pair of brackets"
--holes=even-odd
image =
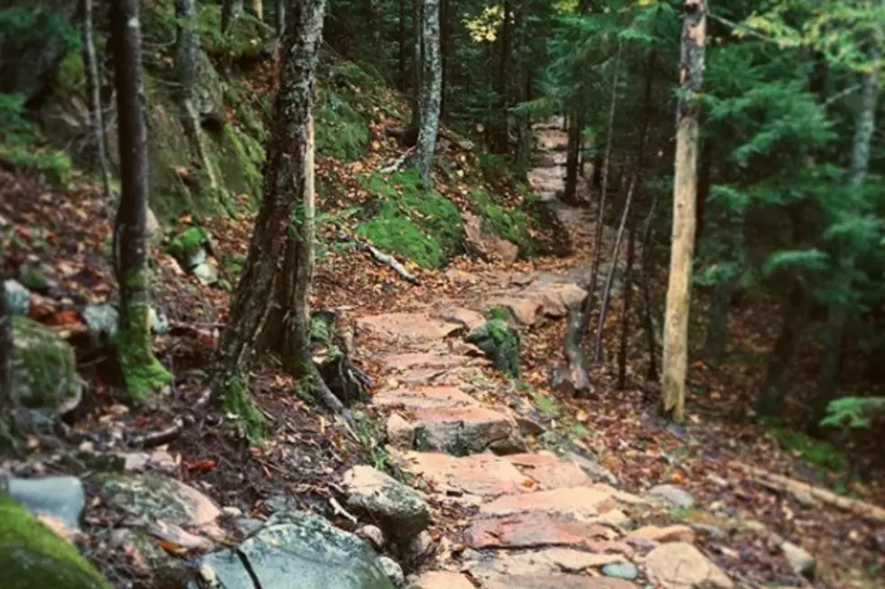
[(673, 234), (670, 276), (666, 290), (662, 408), (675, 421), (685, 419), (685, 378), (688, 369), (688, 315), (691, 303), (694, 224), (697, 198), (697, 96), (703, 87), (706, 5), (685, 0), (679, 78), (682, 96), (676, 115), (676, 156), (673, 180)]

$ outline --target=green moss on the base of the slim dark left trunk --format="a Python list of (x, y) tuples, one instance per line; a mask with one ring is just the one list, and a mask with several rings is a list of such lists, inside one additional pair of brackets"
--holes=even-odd
[[(146, 291), (148, 272), (130, 271), (126, 285)], [(126, 390), (135, 400), (143, 400), (172, 382), (172, 373), (154, 357), (151, 342), (151, 308), (146, 300), (121, 301), (121, 325), (116, 332), (116, 352), (126, 381)]]

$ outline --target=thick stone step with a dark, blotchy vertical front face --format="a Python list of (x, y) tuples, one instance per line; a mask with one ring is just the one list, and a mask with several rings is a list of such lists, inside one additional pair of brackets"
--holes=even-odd
[[(507, 415), (486, 407), (435, 407), (412, 410), (406, 421), (415, 444), (464, 456), (486, 449), (517, 452), (525, 449), (518, 426)], [(410, 449), (410, 448), (404, 448)]]

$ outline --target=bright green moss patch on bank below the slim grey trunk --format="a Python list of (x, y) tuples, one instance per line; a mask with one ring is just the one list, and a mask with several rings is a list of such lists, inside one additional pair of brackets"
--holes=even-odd
[(461, 243), (458, 207), (435, 190), (424, 188), (416, 170), (390, 177), (361, 177), (377, 203), (377, 214), (357, 227), (357, 235), (387, 253), (424, 268), (439, 268)]

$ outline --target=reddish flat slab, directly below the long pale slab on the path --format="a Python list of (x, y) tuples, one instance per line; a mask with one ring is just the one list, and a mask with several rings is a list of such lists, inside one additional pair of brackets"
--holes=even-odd
[(587, 548), (593, 540), (610, 538), (612, 533), (610, 528), (592, 521), (535, 511), (473, 520), (464, 532), (464, 539), (470, 548), (477, 550), (547, 546)]

